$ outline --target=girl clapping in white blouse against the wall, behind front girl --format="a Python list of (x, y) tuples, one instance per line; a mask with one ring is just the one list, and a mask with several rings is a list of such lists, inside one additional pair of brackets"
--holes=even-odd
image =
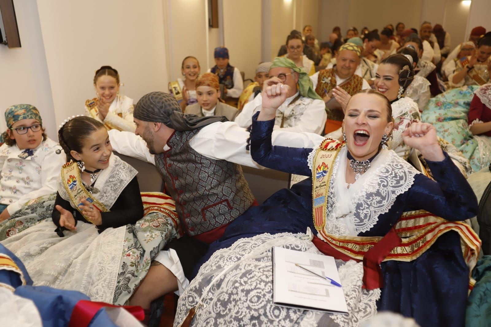
[(133, 99), (119, 94), (118, 71), (102, 66), (95, 71), (94, 87), (97, 97), (85, 101), (85, 114), (102, 123), (108, 130), (135, 132)]

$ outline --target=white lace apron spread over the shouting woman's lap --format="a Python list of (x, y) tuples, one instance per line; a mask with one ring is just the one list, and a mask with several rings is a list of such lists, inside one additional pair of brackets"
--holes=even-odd
[(319, 253), (308, 235), (301, 233), (261, 234), (218, 250), (181, 296), (174, 326), (184, 320), (210, 284), (191, 326), (318, 326), (321, 321), (322, 326), (358, 326), (377, 313), (380, 290), (362, 290), (363, 264), (355, 261), (336, 260), (348, 316), (273, 304), (273, 245)]

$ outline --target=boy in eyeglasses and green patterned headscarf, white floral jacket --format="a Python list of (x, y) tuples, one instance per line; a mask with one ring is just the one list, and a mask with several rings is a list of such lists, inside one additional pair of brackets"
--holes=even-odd
[(65, 164), (57, 143), (46, 136), (39, 110), (21, 104), (5, 110), (0, 146), (0, 222), (36, 197), (56, 192)]

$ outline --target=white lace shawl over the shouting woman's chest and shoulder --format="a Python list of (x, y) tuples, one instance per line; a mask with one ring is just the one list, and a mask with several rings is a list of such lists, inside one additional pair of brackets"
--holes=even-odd
[[(347, 147), (336, 158), (327, 196), (327, 233), (356, 236), (370, 230), (388, 212), (399, 194), (408, 191), (419, 174), (394, 151), (382, 149), (370, 169), (346, 187)], [(312, 169), (312, 157), (308, 165)], [(344, 218), (339, 218), (346, 215)]]

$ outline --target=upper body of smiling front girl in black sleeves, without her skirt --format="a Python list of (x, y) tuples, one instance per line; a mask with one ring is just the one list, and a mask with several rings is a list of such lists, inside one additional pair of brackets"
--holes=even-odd
[[(108, 227), (143, 217), (136, 169), (112, 155), (108, 131), (95, 119), (70, 119), (58, 131), (67, 164), (61, 168), (53, 211), (57, 233), (75, 230), (78, 221)], [(110, 211), (109, 211), (110, 209)]]

